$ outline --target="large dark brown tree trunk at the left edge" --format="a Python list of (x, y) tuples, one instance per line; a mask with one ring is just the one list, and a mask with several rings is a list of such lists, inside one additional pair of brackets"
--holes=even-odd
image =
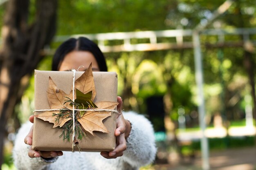
[(7, 119), (42, 59), (44, 46), (55, 34), (56, 9), (57, 0), (37, 0), (35, 21), (29, 25), (29, 0), (8, 2), (0, 51), (0, 165)]

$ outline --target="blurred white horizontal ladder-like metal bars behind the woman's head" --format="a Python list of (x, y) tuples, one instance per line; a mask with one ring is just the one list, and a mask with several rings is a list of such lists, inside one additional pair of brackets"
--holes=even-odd
[[(97, 34), (76, 34), (56, 36), (54, 42), (63, 42), (68, 38), (78, 38), (84, 36), (96, 41), (103, 53), (125, 52), (125, 51), (157, 51), (169, 49), (193, 49), (193, 30), (163, 30), (163, 31), (137, 31), (137, 32), (117, 32), (117, 33), (97, 33)], [(198, 33), (200, 36), (216, 36), (218, 41), (214, 44), (201, 42), (208, 48), (243, 46), (245, 42), (256, 44), (256, 39), (250, 39), (251, 35), (256, 35), (256, 28), (239, 29), (206, 29)], [(227, 41), (226, 35), (242, 35), (243, 40)], [(170, 38), (171, 42), (161, 42), (161, 38)], [(186, 41), (186, 39), (190, 41)], [(108, 45), (117, 40), (118, 44)], [(144, 40), (146, 43), (138, 43)], [(133, 41), (133, 42), (132, 42)], [(137, 43), (134, 43), (136, 42)]]

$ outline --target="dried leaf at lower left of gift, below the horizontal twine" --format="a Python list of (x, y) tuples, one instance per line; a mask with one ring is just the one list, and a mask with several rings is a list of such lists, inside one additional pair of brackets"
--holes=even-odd
[(59, 117), (59, 119), (57, 114), (59, 114), (59, 110), (45, 111), (43, 113), (40, 113), (39, 115), (35, 115), (35, 117), (42, 119), (44, 121), (49, 121), (50, 123), (53, 123), (54, 124), (53, 128), (56, 128), (57, 126), (62, 127), (67, 121), (71, 120), (71, 117), (68, 117), (69, 114), (63, 115), (62, 117)]

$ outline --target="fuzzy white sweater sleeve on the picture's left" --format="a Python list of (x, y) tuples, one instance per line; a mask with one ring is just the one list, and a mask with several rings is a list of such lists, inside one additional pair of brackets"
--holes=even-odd
[(28, 156), (30, 146), (24, 143), (24, 138), (27, 136), (31, 126), (30, 122), (23, 124), (16, 135), (13, 147), (13, 160), (18, 170), (42, 170), (49, 163), (53, 163), (58, 159), (58, 157), (54, 157), (53, 159), (46, 160), (41, 157), (30, 158)]

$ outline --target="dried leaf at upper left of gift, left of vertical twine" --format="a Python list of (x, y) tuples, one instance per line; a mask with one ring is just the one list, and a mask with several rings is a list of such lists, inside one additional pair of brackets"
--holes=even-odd
[[(72, 99), (72, 93), (67, 95), (64, 91), (57, 88), (56, 84), (53, 82), (52, 78), (49, 77), (49, 86), (47, 90), (47, 98), (51, 109), (58, 108), (72, 108), (68, 103), (65, 103), (67, 97)], [(65, 104), (64, 104), (65, 103)]]

